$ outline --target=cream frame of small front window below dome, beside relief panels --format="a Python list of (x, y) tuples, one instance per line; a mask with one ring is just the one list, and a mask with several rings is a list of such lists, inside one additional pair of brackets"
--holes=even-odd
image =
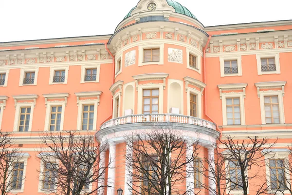
[[(145, 49), (155, 49), (159, 48), (159, 61), (149, 61), (149, 62), (143, 62), (144, 61), (144, 50)], [(164, 64), (164, 43), (145, 43), (138, 46), (139, 51), (139, 58), (138, 58), (138, 66), (144, 66), (149, 64), (158, 64), (163, 65)]]

